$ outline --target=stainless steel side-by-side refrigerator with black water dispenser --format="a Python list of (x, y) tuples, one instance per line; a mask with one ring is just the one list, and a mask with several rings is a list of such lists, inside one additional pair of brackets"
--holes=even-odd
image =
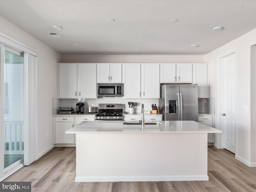
[(164, 121), (198, 121), (197, 84), (164, 84), (161, 86), (160, 113)]

